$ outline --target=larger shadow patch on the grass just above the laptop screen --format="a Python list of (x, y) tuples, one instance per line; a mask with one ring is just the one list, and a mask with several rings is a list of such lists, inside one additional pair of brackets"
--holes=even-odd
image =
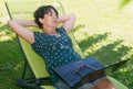
[[(122, 42), (122, 40), (112, 42), (105, 46), (102, 46), (96, 52), (91, 53), (90, 55), (96, 56), (98, 59), (102, 60), (103, 64), (106, 65), (120, 62), (124, 56), (126, 56), (126, 54), (129, 54), (129, 51), (131, 49), (127, 46), (121, 45)], [(116, 48), (115, 51), (115, 47), (119, 45), (121, 45), (121, 47)]]

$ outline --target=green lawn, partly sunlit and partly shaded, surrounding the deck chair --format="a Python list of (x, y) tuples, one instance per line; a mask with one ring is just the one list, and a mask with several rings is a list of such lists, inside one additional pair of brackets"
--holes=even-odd
[[(70, 3), (70, 0), (62, 0), (66, 13), (76, 14), (73, 32), (84, 55), (94, 56), (105, 65), (133, 58), (133, 2), (119, 10), (120, 2), (71, 0)], [(130, 60), (125, 67), (111, 75), (130, 89), (133, 89), (132, 64), (133, 60)], [(0, 23), (0, 89), (19, 89), (13, 81), (22, 74), (22, 65), (23, 55), (14, 33), (7, 24)]]

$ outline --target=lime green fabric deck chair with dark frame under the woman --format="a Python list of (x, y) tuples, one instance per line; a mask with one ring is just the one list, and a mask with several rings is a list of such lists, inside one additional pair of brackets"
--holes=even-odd
[[(64, 13), (61, 2), (51, 0), (6, 2), (6, 7), (11, 19), (32, 19), (33, 11), (41, 4), (52, 4), (57, 8), (60, 14)], [(70, 36), (72, 38), (74, 49), (81, 55), (81, 57), (85, 57), (79, 45), (76, 44), (73, 33), (70, 33)], [(25, 63), (21, 79), (16, 80), (14, 84), (21, 88), (55, 89), (51, 85), (50, 75), (45, 69), (44, 60), (33, 52), (29, 43), (27, 43), (19, 36), (18, 40), (25, 56)], [(27, 76), (29, 68), (32, 76)], [(115, 84), (116, 89), (127, 89), (116, 79), (110, 76), (108, 77), (112, 80), (113, 84)]]

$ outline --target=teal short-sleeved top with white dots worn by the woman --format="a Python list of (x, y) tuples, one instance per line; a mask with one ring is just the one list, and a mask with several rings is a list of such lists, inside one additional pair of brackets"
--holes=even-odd
[(64, 27), (59, 27), (57, 32), (61, 34), (60, 37), (33, 32), (35, 42), (31, 45), (35, 53), (44, 59), (53, 84), (59, 79), (52, 70), (54, 67), (81, 59), (73, 51), (72, 41)]

